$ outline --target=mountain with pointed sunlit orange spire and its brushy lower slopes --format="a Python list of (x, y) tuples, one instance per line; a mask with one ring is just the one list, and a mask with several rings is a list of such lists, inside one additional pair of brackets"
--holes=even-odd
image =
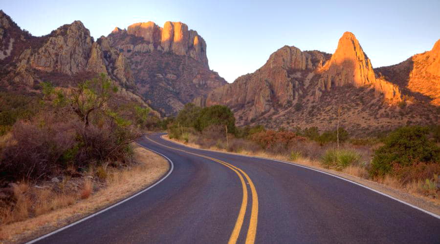
[(193, 102), (228, 105), (239, 125), (258, 123), (268, 128), (332, 130), (339, 107), (342, 126), (358, 133), (439, 121), (436, 106), (407, 95), (403, 88), (378, 76), (359, 41), (346, 32), (333, 55), (284, 46), (254, 73)]

